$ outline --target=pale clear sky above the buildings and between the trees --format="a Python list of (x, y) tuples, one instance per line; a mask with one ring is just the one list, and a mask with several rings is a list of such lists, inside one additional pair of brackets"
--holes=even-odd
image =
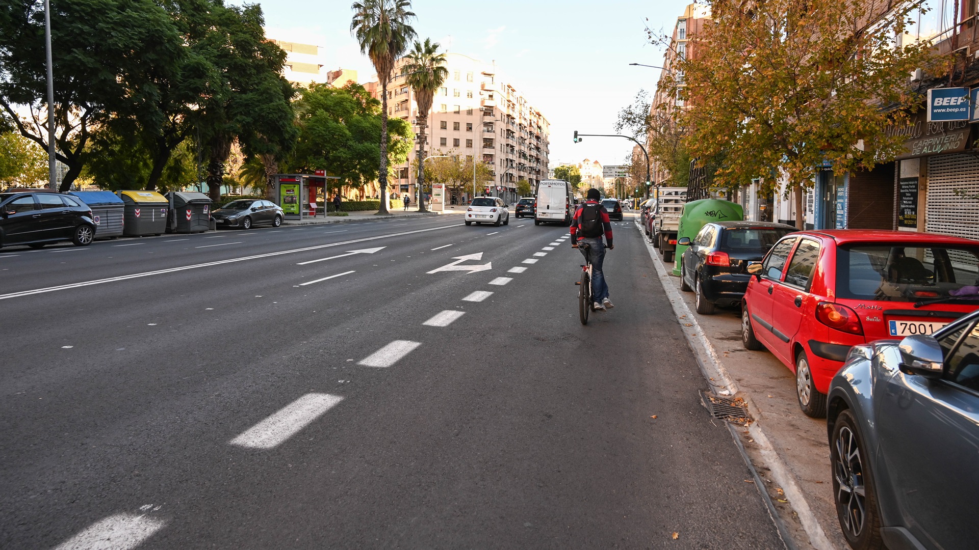
[[(241, 3), (240, 0), (229, 0)], [(253, 0), (254, 1), (254, 0)], [(361, 82), (374, 74), (350, 35), (352, 0), (259, 2), (266, 26), (295, 40), (324, 46), (325, 69), (355, 69)], [(631, 151), (611, 134), (619, 110), (640, 88), (652, 91), (662, 50), (646, 40), (645, 26), (672, 31), (689, 0), (414, 0), (419, 38), (496, 67), (550, 120), (550, 162), (599, 160), (620, 164)], [(647, 22), (648, 18), (648, 22)]]

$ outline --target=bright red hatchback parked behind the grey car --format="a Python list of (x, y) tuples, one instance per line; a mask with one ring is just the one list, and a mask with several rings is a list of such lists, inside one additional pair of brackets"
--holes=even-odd
[(816, 418), (850, 346), (931, 334), (979, 309), (979, 243), (945, 235), (792, 233), (748, 271), (741, 340), (795, 371), (799, 406)]

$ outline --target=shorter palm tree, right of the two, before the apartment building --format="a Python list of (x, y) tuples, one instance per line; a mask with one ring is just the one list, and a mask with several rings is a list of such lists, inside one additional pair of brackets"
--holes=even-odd
[(407, 63), (401, 68), (406, 74), (408, 85), (415, 93), (415, 103), (418, 104), (418, 211), (425, 210), (425, 192), (422, 184), (425, 180), (425, 128), (428, 127), (428, 114), (432, 110), (432, 99), (436, 90), (448, 78), (445, 69), (445, 54), (439, 53), (439, 43), (426, 38), (422, 44), (415, 41), (415, 47), (405, 56)]

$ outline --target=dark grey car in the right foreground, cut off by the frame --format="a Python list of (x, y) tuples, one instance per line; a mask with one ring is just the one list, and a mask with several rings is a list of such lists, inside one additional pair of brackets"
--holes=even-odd
[(854, 549), (976, 547), (977, 323), (856, 345), (833, 377), (833, 496)]

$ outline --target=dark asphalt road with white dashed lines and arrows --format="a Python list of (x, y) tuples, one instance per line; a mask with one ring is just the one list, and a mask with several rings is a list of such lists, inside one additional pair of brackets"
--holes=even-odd
[(0, 251), (0, 547), (781, 548), (630, 224)]

